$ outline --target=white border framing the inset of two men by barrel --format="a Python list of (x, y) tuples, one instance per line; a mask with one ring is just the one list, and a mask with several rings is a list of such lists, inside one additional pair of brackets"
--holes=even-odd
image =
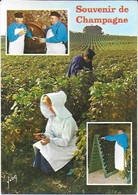
[[(18, 10), (16, 10), (16, 11), (46, 11), (46, 10), (48, 10), (48, 11), (50, 11), (50, 10), (67, 10), (67, 15), (68, 15), (68, 23), (67, 23), (67, 30), (68, 30), (68, 53), (67, 54), (46, 54), (46, 53), (44, 53), (44, 54), (31, 54), (31, 53), (29, 53), (29, 54), (8, 54), (7, 53), (7, 30), (6, 30), (6, 37), (5, 37), (5, 48), (6, 48), (6, 50), (5, 50), (5, 52), (6, 52), (6, 55), (7, 56), (29, 56), (29, 55), (34, 55), (34, 56), (36, 56), (36, 55), (41, 55), (41, 56), (69, 56), (70, 55), (70, 23), (69, 23), (69, 21), (70, 21), (70, 18), (69, 18), (69, 9), (67, 9), (67, 8), (64, 8), (64, 9), (61, 9), (61, 8), (54, 8), (54, 9), (51, 9), (51, 8), (47, 8), (47, 9), (18, 9)], [(7, 26), (7, 12), (8, 11), (14, 11), (14, 9), (11, 9), (11, 10), (6, 10), (6, 26)]]

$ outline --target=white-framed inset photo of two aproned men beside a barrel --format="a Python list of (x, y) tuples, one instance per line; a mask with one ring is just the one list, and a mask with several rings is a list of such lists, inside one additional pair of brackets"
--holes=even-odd
[(7, 10), (7, 54), (69, 54), (68, 10)]

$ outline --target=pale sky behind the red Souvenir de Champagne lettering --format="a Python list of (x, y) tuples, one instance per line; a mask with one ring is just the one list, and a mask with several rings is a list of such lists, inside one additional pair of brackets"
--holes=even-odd
[[(76, 6), (82, 8), (116, 8), (114, 13), (76, 13)], [(119, 12), (123, 6), (128, 8), (128, 12)], [(7, 32), (7, 10), (47, 10), (47, 9), (68, 9), (69, 10), (69, 29), (73, 32), (82, 32), (85, 26), (99, 25), (102, 27), (104, 34), (111, 35), (138, 35), (138, 2), (137, 1), (34, 1), (34, 0), (2, 0), (0, 2), (0, 25), (1, 35)], [(84, 9), (86, 10), (86, 9)], [(101, 24), (101, 23), (78, 23), (76, 18), (85, 16), (85, 18), (127, 18), (128, 22), (123, 24)]]

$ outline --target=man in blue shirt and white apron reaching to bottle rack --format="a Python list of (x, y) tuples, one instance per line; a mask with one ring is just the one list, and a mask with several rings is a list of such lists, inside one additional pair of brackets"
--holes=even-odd
[(119, 170), (121, 178), (124, 178), (124, 170), (126, 164), (126, 151), (128, 147), (128, 137), (123, 130), (117, 130), (116, 135), (107, 135), (101, 137), (108, 141), (116, 141), (115, 143), (115, 169)]

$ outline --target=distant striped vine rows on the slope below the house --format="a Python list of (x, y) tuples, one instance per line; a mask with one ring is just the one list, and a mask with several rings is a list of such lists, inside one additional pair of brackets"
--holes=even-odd
[[(107, 47), (115, 48), (119, 45), (133, 46), (136, 44), (136, 37), (115, 36), (115, 35), (97, 35), (90, 33), (71, 33), (71, 49), (84, 51), (86, 48), (93, 48), (95, 50), (104, 49)], [(85, 40), (85, 43), (81, 40)]]

